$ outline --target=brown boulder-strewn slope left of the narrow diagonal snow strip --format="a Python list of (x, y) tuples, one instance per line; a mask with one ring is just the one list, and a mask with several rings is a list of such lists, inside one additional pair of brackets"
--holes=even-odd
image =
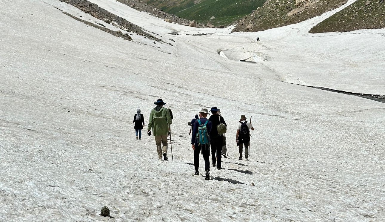
[(239, 20), (233, 32), (256, 32), (302, 22), (344, 5), (346, 0), (267, 0)]

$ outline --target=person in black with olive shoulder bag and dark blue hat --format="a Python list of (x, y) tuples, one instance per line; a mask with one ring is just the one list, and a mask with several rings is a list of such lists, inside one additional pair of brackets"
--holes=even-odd
[[(213, 123), (213, 128), (210, 131), (210, 145), (211, 145), (211, 158), (213, 159), (213, 167), (216, 167), (218, 170), (222, 169), (222, 156), (218, 155), (218, 160), (215, 158), (215, 153), (222, 153), (223, 146), (223, 133), (226, 133), (227, 124), (224, 121), (222, 116), (218, 115), (218, 109), (216, 107), (211, 108), (211, 113), (209, 121)], [(221, 130), (219, 132), (219, 130)]]

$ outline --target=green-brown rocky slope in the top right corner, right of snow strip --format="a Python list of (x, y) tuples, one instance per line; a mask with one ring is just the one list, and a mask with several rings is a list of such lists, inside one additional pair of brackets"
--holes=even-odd
[(310, 33), (381, 28), (385, 28), (385, 1), (358, 0), (313, 27)]

